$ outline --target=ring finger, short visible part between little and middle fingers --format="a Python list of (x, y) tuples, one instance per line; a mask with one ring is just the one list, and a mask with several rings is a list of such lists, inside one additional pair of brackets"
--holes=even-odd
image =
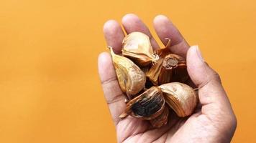
[(106, 21), (103, 31), (106, 44), (113, 47), (115, 53), (121, 53), (124, 32), (122, 31), (122, 27), (119, 25), (119, 23), (114, 20)]

